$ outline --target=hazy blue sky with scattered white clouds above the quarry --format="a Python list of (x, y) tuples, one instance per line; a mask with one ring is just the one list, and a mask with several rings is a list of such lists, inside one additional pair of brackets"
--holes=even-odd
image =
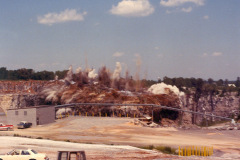
[(240, 76), (239, 0), (0, 0), (0, 67)]

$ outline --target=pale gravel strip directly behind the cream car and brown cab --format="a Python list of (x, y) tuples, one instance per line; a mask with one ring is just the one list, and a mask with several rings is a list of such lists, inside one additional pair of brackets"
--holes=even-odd
[(50, 159), (57, 159), (57, 151), (60, 150), (84, 150), (87, 159), (157, 159), (177, 158), (177, 156), (164, 155), (162, 153), (143, 150), (126, 145), (103, 145), (103, 144), (79, 144), (43, 139), (30, 139), (22, 137), (0, 137), (1, 154), (12, 149), (34, 149), (39, 153), (46, 153)]

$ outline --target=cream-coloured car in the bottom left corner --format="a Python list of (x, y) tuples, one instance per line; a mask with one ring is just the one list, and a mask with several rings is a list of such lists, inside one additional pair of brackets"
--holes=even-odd
[(37, 153), (33, 149), (12, 150), (6, 155), (0, 155), (0, 160), (49, 160), (46, 154)]

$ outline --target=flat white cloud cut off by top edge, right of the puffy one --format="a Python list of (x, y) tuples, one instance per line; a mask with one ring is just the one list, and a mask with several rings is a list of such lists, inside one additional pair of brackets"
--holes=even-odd
[(176, 7), (184, 3), (194, 3), (198, 6), (204, 5), (204, 0), (161, 0), (160, 5), (165, 7)]

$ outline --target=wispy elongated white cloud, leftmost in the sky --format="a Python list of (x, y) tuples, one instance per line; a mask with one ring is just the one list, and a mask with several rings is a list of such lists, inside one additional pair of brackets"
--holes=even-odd
[(54, 23), (64, 23), (69, 21), (83, 21), (87, 12), (77, 13), (75, 9), (66, 9), (60, 13), (47, 13), (38, 17), (38, 23), (52, 25)]

